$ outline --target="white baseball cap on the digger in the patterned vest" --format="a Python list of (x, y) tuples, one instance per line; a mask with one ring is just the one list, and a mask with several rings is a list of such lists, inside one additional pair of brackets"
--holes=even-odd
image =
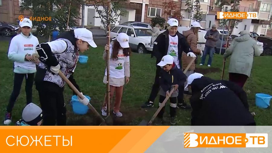
[(89, 31), (88, 29), (77, 28), (77, 29), (74, 29), (74, 33), (75, 33), (75, 38), (88, 42), (88, 44), (94, 48), (97, 47), (96, 43), (93, 41), (92, 32)]

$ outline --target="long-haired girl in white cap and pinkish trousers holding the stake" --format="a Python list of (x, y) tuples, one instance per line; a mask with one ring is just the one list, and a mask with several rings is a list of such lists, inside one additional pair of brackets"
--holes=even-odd
[[(121, 117), (120, 112), (121, 99), (123, 95), (123, 87), (128, 83), (130, 77), (130, 60), (131, 50), (128, 44), (128, 35), (120, 33), (110, 46), (106, 45), (105, 50), (110, 51), (109, 61), (109, 84), (110, 84), (110, 99), (115, 91), (115, 103), (113, 113)], [(106, 51), (104, 51), (103, 59), (107, 60)], [(107, 70), (105, 70), (104, 83), (107, 83)], [(107, 116), (106, 96), (102, 106), (102, 115)]]

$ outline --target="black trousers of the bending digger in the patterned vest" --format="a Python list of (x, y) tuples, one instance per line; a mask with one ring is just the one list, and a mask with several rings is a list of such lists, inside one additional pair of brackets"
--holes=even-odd
[(66, 106), (63, 98), (64, 88), (49, 81), (35, 82), (43, 110), (43, 125), (66, 125)]

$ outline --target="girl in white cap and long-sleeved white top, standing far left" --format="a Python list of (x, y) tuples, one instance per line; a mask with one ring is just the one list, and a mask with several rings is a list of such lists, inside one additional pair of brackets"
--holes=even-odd
[(17, 97), (20, 94), (22, 82), (25, 81), (25, 93), (27, 104), (32, 103), (32, 86), (34, 73), (36, 72), (37, 60), (32, 57), (36, 54), (36, 46), (39, 44), (38, 38), (31, 34), (32, 21), (24, 18), (19, 22), (18, 34), (11, 39), (8, 49), (8, 59), (14, 61), (14, 84), (5, 113), (4, 124), (11, 122), (11, 111)]

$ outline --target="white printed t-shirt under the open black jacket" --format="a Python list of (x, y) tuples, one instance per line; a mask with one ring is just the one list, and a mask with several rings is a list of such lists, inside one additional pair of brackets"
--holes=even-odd
[(178, 41), (179, 38), (176, 35), (175, 37), (169, 35), (169, 46), (168, 46), (168, 51), (167, 55), (171, 55), (174, 57), (174, 62), (177, 66), (177, 68), (180, 68), (180, 60), (179, 60), (179, 54), (178, 54)]

